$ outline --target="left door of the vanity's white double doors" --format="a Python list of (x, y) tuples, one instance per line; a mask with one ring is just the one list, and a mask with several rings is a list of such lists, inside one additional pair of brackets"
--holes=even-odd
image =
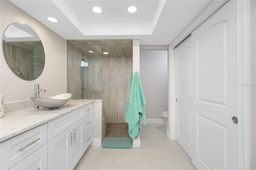
[(71, 128), (48, 142), (48, 170), (70, 170)]

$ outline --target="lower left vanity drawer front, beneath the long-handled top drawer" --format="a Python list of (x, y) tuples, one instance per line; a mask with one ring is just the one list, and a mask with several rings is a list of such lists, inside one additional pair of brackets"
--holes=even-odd
[(47, 144), (16, 164), (10, 170), (47, 170)]

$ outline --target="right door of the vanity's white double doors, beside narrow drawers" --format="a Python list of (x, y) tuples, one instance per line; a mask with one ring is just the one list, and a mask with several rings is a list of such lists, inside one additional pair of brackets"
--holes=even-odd
[(84, 154), (82, 150), (82, 127), (84, 120), (80, 120), (78, 123), (71, 127), (72, 130), (72, 146), (71, 146), (71, 169), (73, 169), (77, 162)]

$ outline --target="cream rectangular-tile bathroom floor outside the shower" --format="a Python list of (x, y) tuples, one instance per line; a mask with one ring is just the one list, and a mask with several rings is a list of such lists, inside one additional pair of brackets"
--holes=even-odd
[(132, 149), (89, 146), (74, 170), (195, 170), (186, 152), (166, 136), (164, 124), (142, 125), (140, 139), (141, 146)]

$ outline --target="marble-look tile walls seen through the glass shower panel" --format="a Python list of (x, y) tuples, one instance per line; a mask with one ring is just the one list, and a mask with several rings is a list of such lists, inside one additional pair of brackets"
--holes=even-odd
[[(85, 51), (74, 46), (72, 41), (67, 44), (67, 53), (67, 92), (72, 94), (72, 99), (101, 99), (101, 55), (86, 55)], [(84, 69), (87, 73), (83, 74), (85, 82), (82, 82), (80, 74), (82, 58), (88, 61), (88, 68)], [(82, 84), (84, 91), (81, 90)]]

